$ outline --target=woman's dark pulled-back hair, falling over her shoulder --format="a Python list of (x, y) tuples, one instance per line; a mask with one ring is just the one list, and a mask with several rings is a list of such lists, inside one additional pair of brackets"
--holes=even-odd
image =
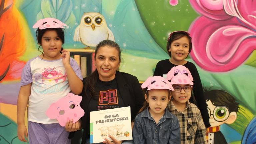
[[(98, 53), (98, 50), (104, 46), (113, 47), (118, 51), (119, 63), (120, 63), (121, 62), (121, 49), (116, 42), (111, 41), (111, 40), (103, 40), (96, 46), (94, 59), (96, 60), (96, 55)], [(98, 77), (99, 77), (99, 73), (96, 69), (92, 74), (90, 74), (86, 78), (84, 90), (89, 90), (89, 97), (91, 97), (91, 98), (96, 98), (95, 95), (97, 95), (97, 93), (95, 91), (95, 88), (96, 88), (96, 83), (97, 83)]]

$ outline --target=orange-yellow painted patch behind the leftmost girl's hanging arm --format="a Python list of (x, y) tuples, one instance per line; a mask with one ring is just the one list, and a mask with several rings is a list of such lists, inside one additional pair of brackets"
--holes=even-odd
[[(0, 112), (17, 123), (17, 105), (0, 103)], [(25, 125), (28, 128), (28, 113), (25, 112)]]

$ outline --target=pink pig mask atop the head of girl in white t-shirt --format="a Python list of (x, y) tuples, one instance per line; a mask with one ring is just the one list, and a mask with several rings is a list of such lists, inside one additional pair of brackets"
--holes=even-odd
[(33, 28), (46, 29), (46, 28), (64, 28), (66, 26), (63, 22), (55, 18), (44, 18), (38, 20)]

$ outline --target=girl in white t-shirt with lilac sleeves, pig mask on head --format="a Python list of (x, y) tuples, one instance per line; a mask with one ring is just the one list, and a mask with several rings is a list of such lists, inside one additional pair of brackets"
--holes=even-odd
[[(36, 37), (43, 52), (30, 59), (22, 71), (17, 102), (18, 138), (21, 141), (26, 142), (25, 136), (29, 136), (30, 143), (70, 144), (69, 132), (81, 128), (80, 123), (72, 121), (61, 127), (56, 119), (49, 119), (46, 115), (52, 103), (70, 91), (78, 95), (83, 88), (78, 64), (70, 58), (69, 51), (62, 48), (65, 25), (58, 19), (45, 18), (33, 26), (38, 28)], [(28, 103), (27, 132), (24, 115)]]

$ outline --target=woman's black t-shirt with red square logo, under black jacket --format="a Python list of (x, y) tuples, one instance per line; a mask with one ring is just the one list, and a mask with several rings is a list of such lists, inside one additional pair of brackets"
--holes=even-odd
[(116, 78), (107, 82), (98, 79), (96, 92), (96, 99), (91, 99), (88, 105), (89, 112), (124, 107)]

